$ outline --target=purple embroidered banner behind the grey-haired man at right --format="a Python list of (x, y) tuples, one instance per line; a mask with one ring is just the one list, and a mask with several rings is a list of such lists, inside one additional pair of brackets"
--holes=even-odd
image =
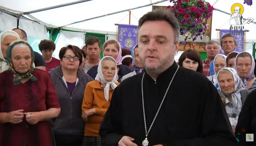
[[(230, 33), (230, 29), (221, 29), (220, 30), (220, 38), (226, 33)], [(235, 51), (236, 52), (244, 52), (244, 34), (245, 31), (242, 30), (242, 34), (240, 34), (240, 30), (235, 31), (231, 30), (231, 34), (236, 38), (237, 46)], [(224, 54), (223, 49), (221, 50), (221, 54)]]

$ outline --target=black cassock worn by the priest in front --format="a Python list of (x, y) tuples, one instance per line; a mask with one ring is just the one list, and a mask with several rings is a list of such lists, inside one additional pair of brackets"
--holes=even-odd
[[(149, 129), (176, 63), (154, 81), (145, 72), (143, 81), (145, 117)], [(142, 108), (143, 72), (124, 80), (113, 92), (100, 127), (103, 144), (117, 145), (123, 136), (142, 145), (145, 126)], [(235, 146), (228, 118), (216, 88), (201, 73), (180, 67), (148, 135), (149, 145)]]

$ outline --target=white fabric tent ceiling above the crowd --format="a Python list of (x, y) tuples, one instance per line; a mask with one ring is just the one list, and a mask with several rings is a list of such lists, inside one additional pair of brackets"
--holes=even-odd
[[(19, 14), (77, 1), (78, 0), (0, 0), (0, 9)], [(117, 27), (114, 25), (115, 23), (129, 23), (128, 10), (131, 10), (130, 24), (138, 25), (138, 19), (142, 17), (146, 12), (152, 10), (152, 6), (150, 4), (154, 5), (157, 3), (156, 5), (158, 6), (172, 5), (172, 3), (170, 3), (170, 0), (84, 0), (85, 2), (81, 1), (82, 0), (79, 1), (79, 4), (68, 5), (40, 12), (34, 12), (23, 16), (52, 28), (62, 27), (65, 29), (81, 30), (85, 32), (110, 32), (109, 34), (114, 34), (117, 32)], [(216, 9), (223, 10), (227, 13), (231, 13), (230, 7), (235, 2), (239, 2), (241, 4), (244, 2), (244, 0), (206, 1), (208, 1), (212, 5), (214, 4), (214, 7)], [(230, 6), (228, 6), (227, 4)], [(140, 6), (145, 7), (134, 9)], [(248, 6), (246, 4), (243, 4), (243, 6), (245, 8), (243, 16), (246, 18), (252, 17), (256, 20), (256, 15), (255, 13), (253, 13), (253, 11), (256, 9), (256, 5)], [(127, 11), (120, 12), (123, 10)], [(106, 15), (110, 13), (115, 14)], [(82, 20), (86, 21), (74, 23)], [(219, 22), (219, 24), (221, 23), (223, 22)]]

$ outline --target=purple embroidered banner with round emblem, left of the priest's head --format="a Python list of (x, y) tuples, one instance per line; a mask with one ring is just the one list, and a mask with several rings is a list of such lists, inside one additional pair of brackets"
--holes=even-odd
[(121, 44), (121, 48), (127, 48), (132, 50), (134, 45), (137, 44), (137, 31), (136, 25), (122, 25), (119, 24), (118, 42)]

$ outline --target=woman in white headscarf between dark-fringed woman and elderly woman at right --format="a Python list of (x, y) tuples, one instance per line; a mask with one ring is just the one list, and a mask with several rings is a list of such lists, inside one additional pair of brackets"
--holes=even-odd
[(217, 74), (220, 69), (226, 67), (226, 55), (218, 54), (213, 60), (214, 65), (214, 75), (208, 76), (207, 78), (213, 83), (213, 85), (218, 88)]

